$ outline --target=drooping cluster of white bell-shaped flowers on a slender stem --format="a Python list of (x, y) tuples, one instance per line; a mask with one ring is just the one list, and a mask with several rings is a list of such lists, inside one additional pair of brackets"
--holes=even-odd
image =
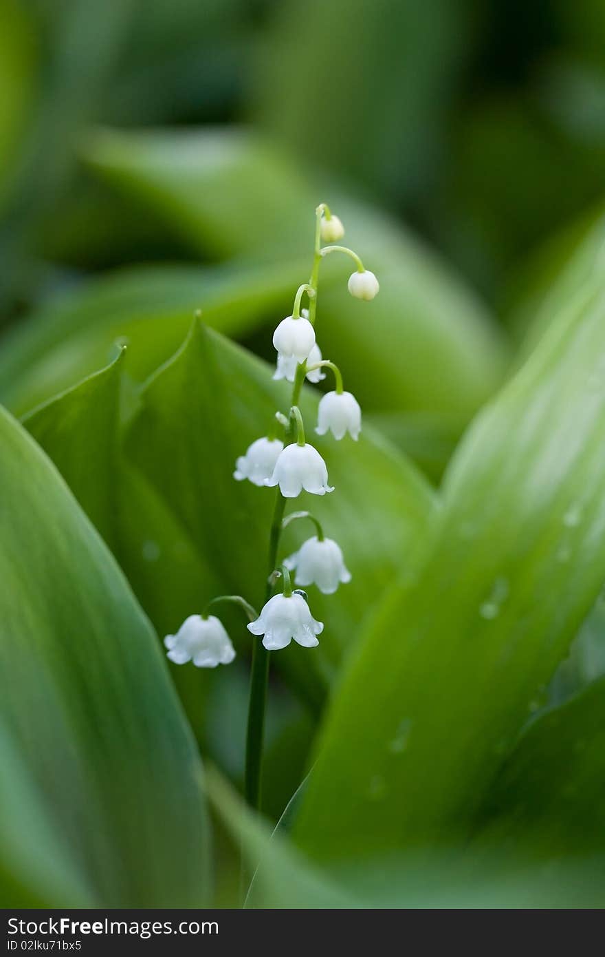
[[(272, 551), (268, 569), (270, 597), (260, 614), (253, 612), (240, 596), (227, 595), (213, 599), (233, 600), (244, 605), (250, 618), (248, 631), (257, 636), (263, 635), (263, 645), (269, 651), (285, 648), (292, 638), (305, 648), (313, 648), (318, 644), (317, 635), (323, 631), (322, 622), (313, 618), (305, 592), (292, 591), (290, 571), (294, 573), (296, 585), (315, 585), (324, 594), (333, 594), (340, 584), (351, 581), (351, 573), (345, 566), (340, 546), (333, 539), (324, 537), (323, 529), (313, 515), (297, 512), (283, 518), (286, 501), (296, 499), (303, 491), (317, 496), (334, 492), (334, 487), (328, 483), (328, 468), (323, 457), (305, 437), (303, 418), (298, 408), (298, 397), (305, 380), (316, 385), (326, 378), (327, 369), (332, 370), (335, 376), (335, 389), (324, 393), (318, 404), (315, 427), (318, 435), (331, 433), (336, 440), (340, 440), (348, 433), (357, 441), (361, 431), (361, 410), (357, 399), (343, 389), (340, 370), (333, 362), (323, 359), (315, 340), (319, 264), (330, 253), (344, 253), (351, 256), (357, 266), (348, 282), (351, 295), (360, 300), (372, 300), (379, 288), (374, 273), (364, 269), (352, 250), (335, 245), (321, 247), (321, 240), (334, 243), (342, 238), (344, 228), (340, 219), (325, 204), (317, 208), (316, 217), (311, 279), (299, 287), (292, 315), (278, 323), (273, 333), (273, 345), (277, 353), (273, 379), (285, 379), (292, 383), (289, 413), (275, 413), (276, 421), (284, 429), (283, 439), (276, 437), (273, 426), (270, 434), (255, 439), (244, 455), (237, 458), (233, 473), (237, 481), (248, 479), (259, 487), (279, 487), (275, 513), (278, 521), (281, 520), (278, 532), (293, 520), (309, 519), (315, 524), (316, 534), (281, 563), (277, 562), (280, 536), (271, 536)], [(309, 300), (307, 309), (301, 308), (304, 295)], [(279, 501), (282, 501), (281, 505)], [(271, 596), (272, 586), (280, 576), (280, 564), (283, 592)], [(191, 615), (177, 634), (164, 639), (164, 644), (168, 649), (168, 657), (177, 664), (191, 660), (198, 667), (215, 667), (219, 663), (227, 664), (235, 657), (225, 628), (212, 615)]]

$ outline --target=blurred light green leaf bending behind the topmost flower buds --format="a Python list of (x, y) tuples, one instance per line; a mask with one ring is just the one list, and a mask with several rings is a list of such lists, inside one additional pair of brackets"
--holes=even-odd
[[(346, 241), (380, 280), (372, 303), (346, 292), (351, 263), (322, 266), (318, 341), (341, 364), (368, 409), (459, 412), (496, 388), (507, 358), (486, 308), (412, 234), (335, 189), (258, 136), (211, 131), (103, 130), (86, 158), (125, 194), (161, 211), (195, 251), (219, 256), (304, 256), (308, 278), (314, 208), (330, 201)], [(295, 283), (297, 285), (298, 282)], [(292, 287), (292, 293), (294, 286)], [(325, 318), (325, 321), (322, 319)]]

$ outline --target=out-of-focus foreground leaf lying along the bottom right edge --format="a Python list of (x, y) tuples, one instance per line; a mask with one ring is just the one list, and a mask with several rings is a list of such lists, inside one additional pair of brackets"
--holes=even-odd
[(320, 869), (292, 845), (283, 820), (270, 834), (213, 771), (208, 794), (254, 872), (246, 907), (602, 906), (605, 858), (598, 853), (545, 864), (523, 842), (503, 849), (484, 839), (481, 845), (385, 853), (361, 863), (354, 857)]

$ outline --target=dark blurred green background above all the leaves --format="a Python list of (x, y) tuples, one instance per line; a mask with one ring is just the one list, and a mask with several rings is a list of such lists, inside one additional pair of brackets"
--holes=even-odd
[(322, 185), (411, 225), (503, 308), (529, 254), (601, 196), (598, 0), (0, 9), (5, 324), (83, 275), (192, 257), (83, 162), (96, 124), (249, 124)]

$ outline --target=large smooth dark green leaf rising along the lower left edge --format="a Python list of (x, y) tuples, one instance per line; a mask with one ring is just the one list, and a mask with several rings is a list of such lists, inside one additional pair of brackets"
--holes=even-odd
[[(0, 439), (2, 726), (85, 876), (82, 895), (105, 907), (201, 905), (199, 762), (155, 635), (49, 459), (6, 412)], [(59, 885), (49, 897), (64, 900)]]

